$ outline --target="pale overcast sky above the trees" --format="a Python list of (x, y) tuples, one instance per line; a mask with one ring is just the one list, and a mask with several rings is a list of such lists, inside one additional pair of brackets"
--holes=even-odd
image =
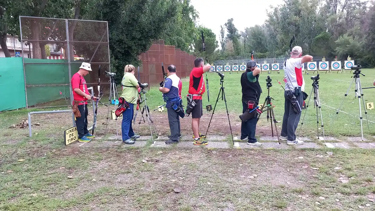
[[(197, 23), (210, 28), (216, 34), (220, 48), (220, 25), (233, 18), (233, 23), (239, 31), (246, 27), (262, 25), (267, 18), (270, 5), (277, 6), (283, 0), (190, 0), (190, 4), (199, 13)], [(226, 30), (225, 30), (226, 34)]]

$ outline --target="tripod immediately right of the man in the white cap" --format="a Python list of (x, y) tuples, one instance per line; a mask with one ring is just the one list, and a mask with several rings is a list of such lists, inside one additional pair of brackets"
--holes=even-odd
[(326, 136), (324, 135), (322, 109), (321, 109), (321, 106), (320, 106), (320, 97), (319, 97), (319, 84), (318, 84), (319, 83), (319, 81), (318, 81), (319, 80), (319, 74), (317, 76), (311, 77), (311, 79), (313, 79), (314, 82), (312, 82), (312, 90), (311, 90), (311, 93), (310, 93), (309, 101), (307, 102), (307, 105), (306, 105), (305, 114), (303, 115), (303, 118), (302, 118), (300, 131), (302, 130), (303, 120), (305, 120), (306, 111), (307, 111), (307, 108), (309, 107), (312, 92), (314, 91), (314, 107), (317, 108), (317, 113), (316, 113), (316, 115), (317, 115), (317, 134), (318, 134), (317, 137), (319, 139), (319, 118), (318, 118), (318, 108), (319, 108), (319, 116), (320, 116), (320, 121), (321, 121), (322, 132), (323, 132), (323, 141), (324, 141), (324, 143), (326, 143)]

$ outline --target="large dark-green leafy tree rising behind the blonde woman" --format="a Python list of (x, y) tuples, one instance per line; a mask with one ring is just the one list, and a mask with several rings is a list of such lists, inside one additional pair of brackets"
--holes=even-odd
[[(178, 0), (98, 0), (87, 19), (108, 21), (113, 72), (140, 64), (139, 55), (175, 20)], [(118, 74), (120, 75), (120, 74)]]

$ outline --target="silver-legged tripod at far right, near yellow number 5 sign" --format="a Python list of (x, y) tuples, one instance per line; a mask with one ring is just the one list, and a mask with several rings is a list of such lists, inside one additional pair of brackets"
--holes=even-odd
[[(358, 65), (359, 66), (359, 65)], [(341, 102), (341, 105), (340, 107), (338, 108), (338, 110), (336, 111), (336, 114), (339, 113), (339, 111), (341, 111), (341, 108), (342, 108), (342, 105), (344, 104), (344, 100), (345, 100), (345, 97), (348, 96), (348, 93), (349, 93), (349, 90), (350, 90), (350, 87), (353, 85), (353, 82), (356, 83), (356, 89), (354, 90), (354, 98), (358, 97), (358, 106), (359, 106), (359, 119), (360, 119), (360, 122), (361, 122), (361, 135), (362, 135), (362, 141), (363, 141), (363, 126), (362, 126), (362, 110), (361, 110), (361, 99), (362, 99), (362, 103), (363, 103), (363, 108), (365, 109), (365, 114), (366, 114), (366, 121), (367, 121), (367, 126), (370, 130), (370, 126), (369, 126), (369, 118), (367, 116), (367, 109), (366, 109), (366, 103), (365, 103), (365, 99), (363, 97), (363, 91), (362, 91), (362, 85), (361, 85), (361, 80), (359, 78), (359, 74), (363, 75), (361, 73), (361, 70), (357, 69), (353, 72), (354, 76), (352, 76), (353, 80), (351, 81), (350, 85), (349, 85), (349, 88), (347, 90), (347, 93), (345, 93), (344, 95), (344, 99), (342, 99), (342, 102)], [(365, 76), (365, 75), (363, 75)]]

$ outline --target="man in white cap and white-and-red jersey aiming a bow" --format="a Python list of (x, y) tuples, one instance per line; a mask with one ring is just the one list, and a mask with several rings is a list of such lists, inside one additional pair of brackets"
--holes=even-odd
[(284, 77), (287, 82), (285, 83), (284, 118), (280, 140), (287, 140), (287, 144), (303, 144), (303, 141), (296, 138), (296, 129), (302, 114), (302, 92), (305, 91), (305, 80), (302, 76), (303, 64), (311, 60), (311, 55), (302, 56), (302, 48), (295, 46), (290, 58), (284, 62)]

